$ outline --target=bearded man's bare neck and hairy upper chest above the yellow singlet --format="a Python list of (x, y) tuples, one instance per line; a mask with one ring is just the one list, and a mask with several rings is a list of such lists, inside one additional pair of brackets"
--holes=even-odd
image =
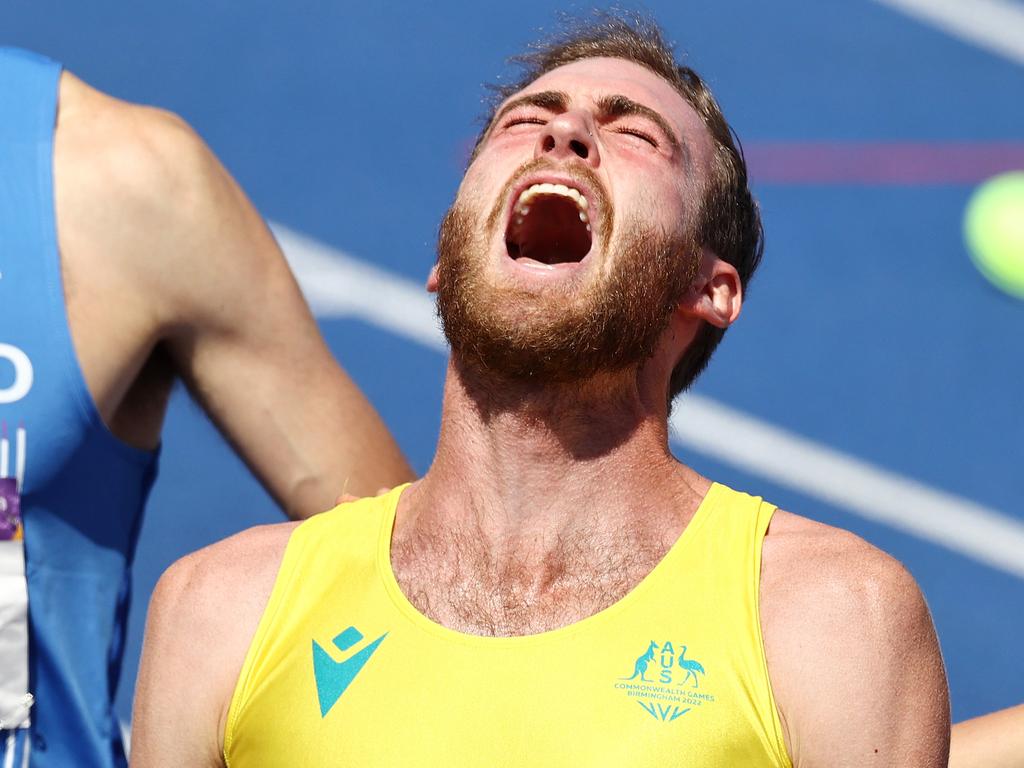
[(471, 634), (526, 635), (633, 589), (709, 485), (669, 453), (656, 390), (636, 373), (540, 386), (450, 364), (434, 463), (402, 495), (391, 540), (417, 608)]

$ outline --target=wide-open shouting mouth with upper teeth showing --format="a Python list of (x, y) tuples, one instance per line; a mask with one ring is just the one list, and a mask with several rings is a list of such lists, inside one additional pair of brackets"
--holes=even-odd
[(505, 231), (509, 256), (520, 263), (579, 263), (593, 237), (583, 193), (565, 184), (532, 184), (519, 195)]

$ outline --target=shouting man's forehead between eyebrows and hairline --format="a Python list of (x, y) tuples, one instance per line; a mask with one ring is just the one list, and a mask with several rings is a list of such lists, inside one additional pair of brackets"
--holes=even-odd
[(602, 96), (628, 96), (669, 121), (676, 137), (687, 143), (701, 163), (713, 153), (711, 135), (689, 102), (667, 80), (633, 61), (604, 56), (572, 61), (545, 73), (509, 100), (540, 91), (568, 94), (572, 109), (594, 104)]

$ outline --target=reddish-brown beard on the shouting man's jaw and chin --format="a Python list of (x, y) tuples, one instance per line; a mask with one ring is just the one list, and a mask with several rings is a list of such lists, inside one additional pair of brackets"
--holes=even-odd
[(441, 222), (437, 312), (453, 357), (482, 375), (535, 384), (639, 369), (696, 276), (699, 248), (691, 233), (645, 231), (633, 218), (609, 251), (605, 202), (609, 270), (591, 269), (584, 284), (544, 291), (500, 286), (487, 278), (487, 234), (506, 199), (488, 216), (456, 200)]

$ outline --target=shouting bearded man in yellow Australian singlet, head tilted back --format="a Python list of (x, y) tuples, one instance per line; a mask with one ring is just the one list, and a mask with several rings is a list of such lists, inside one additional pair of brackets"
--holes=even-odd
[(761, 243), (728, 125), (656, 28), (537, 49), (441, 225), (430, 470), (175, 564), (133, 762), (945, 765), (906, 571), (669, 451)]

